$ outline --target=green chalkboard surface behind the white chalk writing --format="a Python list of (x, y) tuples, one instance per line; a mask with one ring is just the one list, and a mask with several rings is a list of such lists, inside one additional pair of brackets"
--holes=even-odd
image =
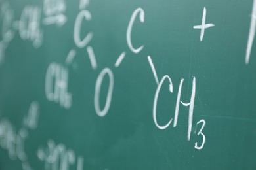
[[(16, 32), (0, 66), (1, 119), (8, 118), (20, 129), (30, 103), (40, 103), (38, 127), (29, 131), (25, 145), (33, 169), (44, 168), (36, 152), (49, 139), (83, 156), (84, 169), (256, 169), (256, 44), (249, 65), (245, 65), (252, 0), (91, 1), (87, 10), (92, 20), (83, 22), (81, 35), (93, 31), (89, 46), (95, 50), (96, 70), (91, 68), (86, 48), (77, 48), (73, 39), (79, 1), (66, 3), (68, 22), (64, 26), (41, 25), (44, 38), (39, 48), (20, 39)], [(17, 20), (26, 5), (42, 7), (41, 1), (9, 4)], [(145, 22), (141, 24), (137, 18), (132, 40), (134, 46), (144, 44), (144, 49), (133, 54), (127, 46), (126, 31), (138, 7), (144, 9)], [(200, 42), (200, 30), (193, 26), (201, 24), (203, 7), (207, 9), (206, 23), (215, 27), (206, 29)], [(64, 65), (72, 48), (77, 51), (69, 68), (72, 107), (66, 110), (47, 100), (45, 74), (52, 62)], [(127, 55), (115, 68), (121, 52)], [(191, 140), (186, 139), (188, 107), (181, 105), (176, 128), (172, 124), (160, 130), (154, 125), (157, 86), (148, 55), (158, 77), (169, 75), (173, 81), (173, 94), (166, 93), (166, 82), (160, 92), (160, 124), (174, 115), (181, 78), (181, 99), (189, 102), (192, 76), (196, 77), (192, 131), (199, 120), (205, 120), (202, 150), (194, 148), (194, 143), (202, 142), (202, 136), (192, 133)], [(105, 67), (112, 70), (115, 82), (110, 110), (100, 118), (93, 100), (96, 78)], [(101, 108), (107, 84), (108, 78), (102, 84)], [(1, 148), (0, 169), (22, 167), (19, 160), (9, 160), (7, 151)]]

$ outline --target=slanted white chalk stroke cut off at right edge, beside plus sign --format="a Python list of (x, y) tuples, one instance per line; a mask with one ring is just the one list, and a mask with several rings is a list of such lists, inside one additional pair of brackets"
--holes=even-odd
[(246, 56), (245, 56), (245, 64), (249, 63), (249, 59), (251, 56), (251, 48), (253, 46), (253, 41), (255, 37), (256, 31), (256, 0), (253, 1), (253, 12), (251, 14), (251, 26), (249, 29), (249, 37), (247, 42)]

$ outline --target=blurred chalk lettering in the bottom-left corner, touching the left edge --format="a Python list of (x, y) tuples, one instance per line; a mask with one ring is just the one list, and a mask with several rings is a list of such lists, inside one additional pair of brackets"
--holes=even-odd
[(20, 129), (17, 129), (7, 118), (0, 120), (0, 146), (7, 150), (11, 160), (19, 160), (24, 170), (32, 170), (25, 146), (26, 140), (30, 137), (29, 132), (38, 126), (39, 108), (39, 102), (32, 101)]

